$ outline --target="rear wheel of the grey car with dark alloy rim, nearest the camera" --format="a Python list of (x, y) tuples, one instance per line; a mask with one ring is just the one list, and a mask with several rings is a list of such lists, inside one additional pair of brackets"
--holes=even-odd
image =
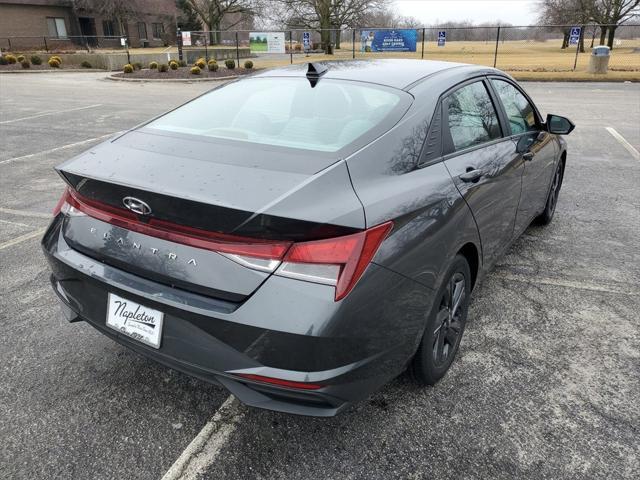
[[(456, 287), (464, 295), (452, 312), (456, 302)], [(440, 380), (453, 362), (467, 323), (471, 296), (471, 271), (462, 255), (456, 255), (438, 289), (427, 326), (410, 370), (422, 385), (433, 385)]]

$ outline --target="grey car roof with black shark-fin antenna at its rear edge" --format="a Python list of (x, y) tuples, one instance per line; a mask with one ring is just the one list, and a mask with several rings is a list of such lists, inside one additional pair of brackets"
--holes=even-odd
[[(456, 73), (453, 76), (460, 78), (468, 77), (472, 73), (502, 73), (478, 65), (435, 60), (375, 59), (320, 63), (328, 68), (321, 78), (377, 83), (402, 90), (408, 90), (421, 80), (443, 72)], [(270, 69), (257, 73), (254, 77), (304, 77), (307, 69), (308, 63), (302, 63)]]

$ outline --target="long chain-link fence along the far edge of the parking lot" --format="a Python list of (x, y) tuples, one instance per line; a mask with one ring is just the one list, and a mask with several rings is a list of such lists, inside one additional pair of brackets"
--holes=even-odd
[[(575, 27), (581, 29), (578, 38), (571, 36)], [(323, 60), (423, 58), (495, 66), (512, 72), (584, 72), (591, 48), (600, 45), (601, 39), (606, 44), (611, 28), (615, 28), (615, 38), (609, 69), (640, 71), (640, 25), (424, 27), (408, 29), (412, 41), (415, 38), (415, 45), (405, 51), (374, 51), (368, 45), (367, 35), (372, 31), (392, 31), (379, 27), (263, 32), (284, 36), (280, 53), (254, 51), (250, 32), (246, 30), (190, 32), (189, 44), (180, 47), (188, 63), (200, 57), (207, 60), (234, 58), (238, 62), (241, 58), (252, 57), (256, 67), (271, 67)], [(402, 30), (395, 29), (396, 32)], [(182, 38), (178, 36), (173, 51), (183, 43)], [(0, 49), (14, 52), (118, 51), (125, 48), (121, 37), (0, 37)]]

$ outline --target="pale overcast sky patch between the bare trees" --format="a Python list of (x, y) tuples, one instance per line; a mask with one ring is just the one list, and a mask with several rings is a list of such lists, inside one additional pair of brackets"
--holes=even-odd
[(537, 0), (396, 0), (401, 15), (415, 17), (425, 24), (447, 20), (474, 23), (502, 20), (513, 25), (536, 23)]

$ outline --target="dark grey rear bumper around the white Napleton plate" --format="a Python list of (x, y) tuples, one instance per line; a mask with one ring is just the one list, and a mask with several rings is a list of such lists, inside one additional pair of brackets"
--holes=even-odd
[[(43, 239), (52, 284), (69, 320), (159, 363), (226, 387), (242, 402), (294, 414), (332, 416), (398, 375), (417, 347), (430, 295), (417, 283), (371, 265), (351, 294), (270, 277), (232, 303), (179, 290), (105, 265), (71, 249), (54, 220)], [(165, 313), (159, 349), (106, 326), (109, 293)], [(283, 388), (246, 373), (318, 383)]]

